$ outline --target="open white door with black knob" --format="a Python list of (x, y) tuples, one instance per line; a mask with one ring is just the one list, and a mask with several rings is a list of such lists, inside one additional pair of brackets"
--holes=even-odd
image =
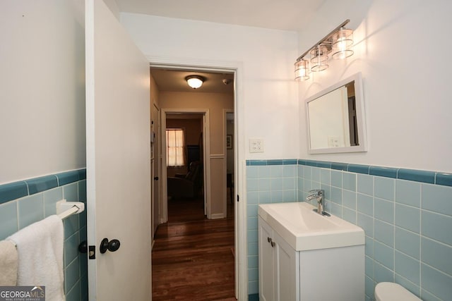
[(151, 300), (149, 63), (104, 1), (85, 35), (89, 299)]

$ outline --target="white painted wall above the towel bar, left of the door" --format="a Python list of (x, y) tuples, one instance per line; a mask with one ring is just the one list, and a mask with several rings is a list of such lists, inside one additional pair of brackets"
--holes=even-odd
[(0, 20), (0, 184), (85, 167), (84, 1), (1, 1)]

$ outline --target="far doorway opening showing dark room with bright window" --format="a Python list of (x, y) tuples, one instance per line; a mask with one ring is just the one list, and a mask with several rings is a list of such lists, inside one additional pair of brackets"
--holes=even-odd
[[(210, 195), (210, 162), (206, 148), (210, 145), (210, 123), (208, 111), (197, 109), (172, 110), (162, 109), (162, 128), (165, 129), (165, 149), (162, 156), (166, 160), (167, 202), (163, 200), (166, 221), (184, 222), (202, 220), (208, 216), (208, 196)], [(179, 139), (174, 141), (168, 133), (179, 131)], [(206, 135), (207, 134), (207, 135)], [(177, 145), (179, 152), (174, 151)], [(207, 154), (207, 156), (206, 156)], [(172, 164), (169, 156), (179, 156), (179, 164)]]

